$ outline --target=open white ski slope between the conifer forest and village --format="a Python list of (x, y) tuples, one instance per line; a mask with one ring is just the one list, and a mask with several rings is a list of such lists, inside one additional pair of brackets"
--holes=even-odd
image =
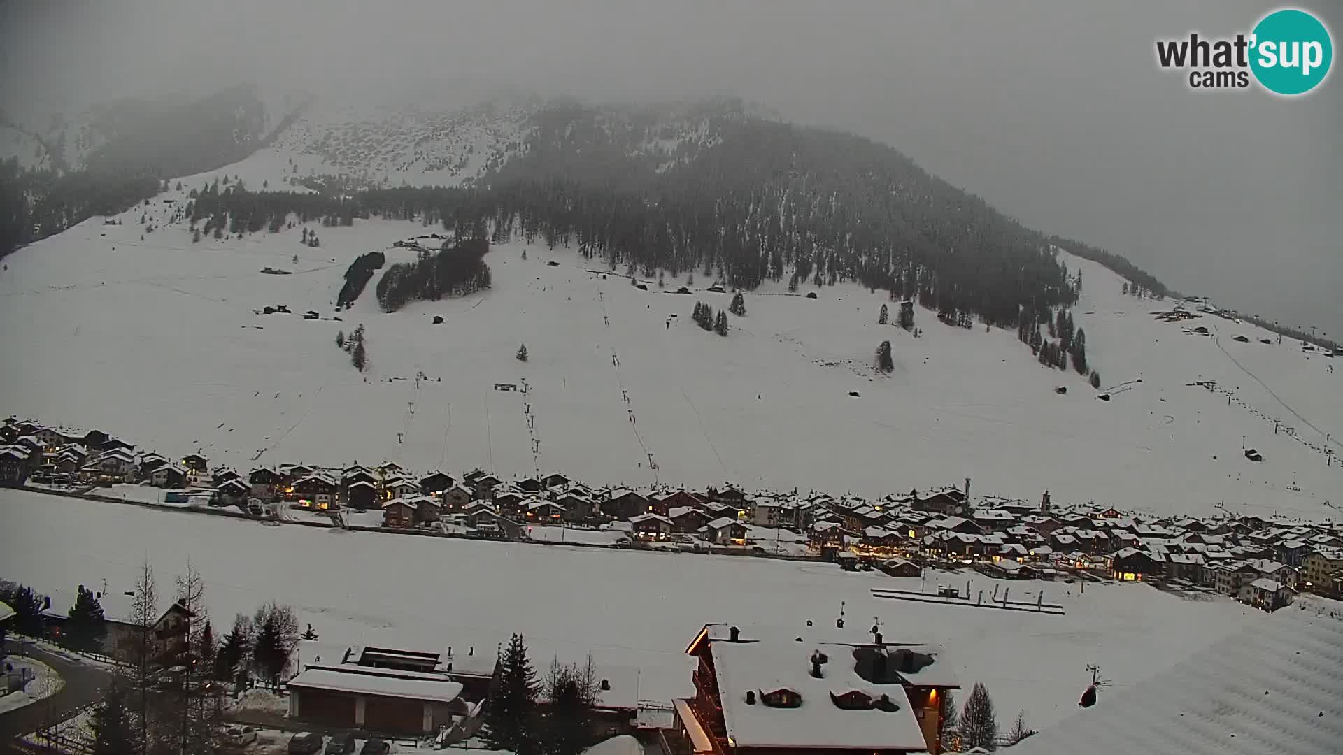
[[(337, 322), (333, 301), (356, 255), (406, 259), (393, 242), (438, 228), (313, 224), (317, 249), (299, 243), (299, 228), (193, 245), (184, 224), (168, 224), (141, 240), (140, 215), (167, 222), (165, 199), (185, 202), (168, 192), (122, 226), (94, 219), (5, 259), (0, 318), (21, 326), (5, 328), (0, 412), (98, 427), (169, 457), (199, 450), (242, 470), (396, 459), (418, 472), (866, 496), (970, 477), (974, 493), (1031, 501), (1048, 489), (1061, 504), (1206, 515), (1225, 501), (1308, 517), (1336, 516), (1323, 504), (1343, 490), (1343, 468), (1323, 453), (1343, 431), (1336, 360), (1262, 344), (1268, 333), (1218, 317), (1154, 321), (1150, 312), (1174, 302), (1123, 296), (1116, 275), (1070, 257), (1084, 271), (1074, 320), (1109, 402), (1076, 372), (1039, 367), (1013, 330), (951, 328), (923, 309), (921, 339), (877, 325), (881, 292), (748, 293), (747, 316), (731, 317), (723, 339), (690, 321), (697, 300), (731, 300), (702, 290), (702, 275), (694, 296), (645, 292), (544, 246), (497, 246), (492, 290), (395, 314), (379, 310), (375, 277)], [(293, 314), (259, 314), (266, 305)], [(305, 320), (309, 309), (324, 320)], [(360, 324), (365, 375), (333, 343)], [(1217, 337), (1183, 332), (1197, 325)], [(873, 368), (882, 340), (889, 376)], [(525, 364), (514, 359), (524, 343)], [(526, 395), (494, 390), (522, 380)], [(1275, 434), (1273, 418), (1295, 435)], [(1265, 461), (1246, 461), (1242, 443)]]

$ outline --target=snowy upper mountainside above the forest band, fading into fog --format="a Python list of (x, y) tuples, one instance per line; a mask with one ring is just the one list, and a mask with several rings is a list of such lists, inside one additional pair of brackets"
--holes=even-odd
[[(251, 188), (301, 188), (325, 179), (348, 188), (471, 185), (539, 144), (572, 154), (614, 146), (631, 159), (655, 159), (665, 169), (720, 142), (714, 124), (723, 118), (778, 116), (736, 99), (592, 107), (516, 97), (465, 109), (371, 109), (317, 99), (266, 146), (216, 173)], [(595, 128), (575, 128), (587, 120)]]

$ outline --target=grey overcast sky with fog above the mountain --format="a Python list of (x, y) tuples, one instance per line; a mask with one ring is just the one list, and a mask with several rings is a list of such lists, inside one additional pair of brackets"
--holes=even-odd
[[(1343, 74), (1304, 99), (1195, 94), (1158, 38), (1272, 3), (5, 1), (0, 102), (267, 77), (367, 103), (736, 94), (888, 142), (1168, 285), (1343, 336)], [(1343, 30), (1343, 3), (1300, 5)], [(1335, 69), (1339, 64), (1335, 64)]]

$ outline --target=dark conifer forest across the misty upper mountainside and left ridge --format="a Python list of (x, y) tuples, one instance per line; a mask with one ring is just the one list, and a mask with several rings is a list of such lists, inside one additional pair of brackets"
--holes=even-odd
[[(161, 110), (154, 129), (89, 156), (89, 185), (79, 191), (97, 197), (78, 193), (83, 184), (75, 183), (67, 192), (77, 199), (54, 203), (50, 181), (7, 176), (0, 250), (153, 191), (126, 176), (199, 172), (248, 153), (263, 138), (261, 110), (247, 90)], [(485, 128), (477, 121), (473, 128)], [(855, 281), (917, 300), (955, 324), (1011, 326), (1023, 310), (1045, 317), (1072, 305), (1080, 281), (1057, 261), (1058, 247), (1164, 290), (1123, 258), (1023, 227), (890, 146), (759, 117), (736, 99), (552, 101), (526, 110), (517, 129), (520, 140), (469, 185), (355, 192), (337, 177), (314, 176), (308, 185), (318, 191), (299, 195), (214, 184), (193, 187), (189, 214), (216, 236), (279, 230), (290, 212), (333, 224), (415, 218), (459, 238), (541, 239), (647, 277), (696, 271), (748, 290), (766, 281), (794, 290)], [(15, 189), (15, 180), (36, 188)]]

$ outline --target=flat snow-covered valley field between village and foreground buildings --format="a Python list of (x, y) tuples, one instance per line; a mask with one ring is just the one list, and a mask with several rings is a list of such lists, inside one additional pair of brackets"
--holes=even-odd
[[(923, 583), (822, 563), (263, 527), (23, 490), (0, 490), (0, 521), (7, 579), (106, 579), (122, 590), (148, 558), (163, 590), (189, 559), (208, 582), (216, 626), (275, 599), (326, 643), (492, 653), (520, 631), (541, 668), (556, 654), (591, 652), (598, 664), (638, 665), (638, 697), (663, 703), (690, 693), (684, 650), (705, 622), (802, 633), (808, 619), (833, 622), (843, 602), (853, 626), (878, 617), (889, 639), (943, 643), (964, 685), (983, 681), (1007, 717), (1025, 708), (1044, 728), (1076, 708), (1086, 664), (1127, 686), (1265, 615), (1143, 584), (1093, 584), (1081, 595), (1076, 584), (1010, 583), (1022, 601), (1044, 590), (1065, 617), (881, 601), (870, 588)], [(994, 590), (994, 580), (964, 574), (931, 574), (927, 587), (967, 579), (974, 591)]]

